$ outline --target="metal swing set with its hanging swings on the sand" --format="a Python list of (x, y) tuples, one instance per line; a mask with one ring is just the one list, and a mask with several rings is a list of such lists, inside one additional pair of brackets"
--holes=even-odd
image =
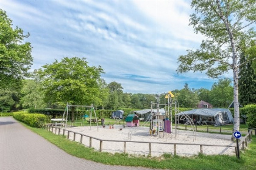
[[(94, 110), (94, 107), (93, 107), (93, 104), (91, 104), (91, 106), (82, 106), (82, 105), (69, 105), (69, 103), (66, 104), (66, 107), (65, 107), (65, 111), (63, 113), (63, 116), (62, 116), (62, 123), (61, 123), (61, 127), (64, 127), (66, 129), (66, 125), (68, 123), (68, 118), (69, 120), (70, 119), (70, 115), (71, 115), (71, 110), (73, 108), (76, 108), (77, 112), (76, 112), (76, 122), (77, 123), (77, 117), (80, 118), (80, 114), (78, 116), (78, 112), (79, 112), (79, 108), (82, 107), (82, 109), (88, 109), (89, 110), (89, 116), (84, 114), (82, 115), (82, 123), (84, 123), (84, 120), (86, 117), (90, 117), (90, 119), (88, 120), (88, 123), (90, 123), (90, 129), (91, 129), (91, 122), (94, 122), (93, 120), (96, 120), (95, 123), (97, 125), (97, 130), (99, 131), (99, 128), (98, 128), (98, 118), (96, 117), (96, 112)], [(86, 110), (85, 110), (86, 111)], [(83, 112), (83, 110), (82, 110)], [(94, 118), (92, 117), (94, 114)], [(81, 124), (82, 124), (81, 123)]]

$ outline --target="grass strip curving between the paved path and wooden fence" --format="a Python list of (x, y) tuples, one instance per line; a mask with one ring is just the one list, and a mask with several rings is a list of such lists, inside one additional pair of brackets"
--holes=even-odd
[[(26, 125), (24, 125), (26, 126)], [(162, 157), (137, 157), (128, 154), (110, 154), (94, 151), (83, 144), (67, 140), (62, 135), (55, 135), (45, 129), (26, 126), (46, 140), (63, 149), (68, 154), (107, 165), (143, 166), (158, 169), (255, 169), (256, 137), (252, 138), (249, 148), (240, 152), (240, 160), (228, 155), (196, 155), (179, 157), (165, 154)]]

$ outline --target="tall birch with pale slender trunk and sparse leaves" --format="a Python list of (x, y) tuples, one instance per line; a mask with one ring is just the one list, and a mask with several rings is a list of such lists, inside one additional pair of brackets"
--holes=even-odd
[[(238, 63), (241, 49), (255, 46), (256, 2), (254, 0), (193, 0), (190, 25), (194, 32), (200, 32), (207, 39), (201, 49), (187, 50), (187, 55), (179, 56), (177, 72), (190, 70), (205, 71), (216, 78), (228, 70), (233, 72), (234, 128), (239, 131), (240, 117), (238, 106)], [(242, 46), (242, 42), (246, 42)], [(255, 55), (251, 60), (255, 60)], [(248, 61), (246, 61), (248, 62)]]

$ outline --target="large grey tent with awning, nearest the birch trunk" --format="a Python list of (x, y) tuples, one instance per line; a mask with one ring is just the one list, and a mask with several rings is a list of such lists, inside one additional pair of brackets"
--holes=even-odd
[(215, 123), (216, 126), (233, 123), (233, 117), (229, 109), (193, 109), (180, 112), (177, 116), (188, 115), (196, 121)]

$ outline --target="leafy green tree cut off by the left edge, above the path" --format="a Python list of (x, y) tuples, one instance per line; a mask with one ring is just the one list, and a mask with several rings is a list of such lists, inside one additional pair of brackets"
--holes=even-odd
[(0, 9), (0, 87), (19, 88), (32, 65), (30, 42), (23, 30), (12, 28), (12, 20)]

